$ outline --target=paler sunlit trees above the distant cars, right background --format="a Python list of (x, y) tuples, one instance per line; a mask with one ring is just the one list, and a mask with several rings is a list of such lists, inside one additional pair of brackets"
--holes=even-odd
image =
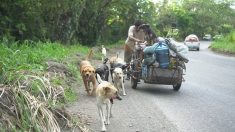
[[(157, 27), (163, 36), (171, 28), (179, 29), (179, 38), (188, 34), (226, 34), (235, 28), (235, 10), (232, 1), (184, 0), (161, 7)], [(220, 19), (221, 18), (221, 19)]]

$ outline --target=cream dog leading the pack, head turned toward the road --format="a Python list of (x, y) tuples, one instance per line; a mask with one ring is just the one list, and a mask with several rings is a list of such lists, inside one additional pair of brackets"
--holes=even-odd
[(102, 125), (101, 130), (106, 131), (105, 125), (110, 124), (109, 118), (112, 116), (113, 99), (122, 100), (122, 98), (118, 95), (117, 88), (111, 83), (103, 81), (99, 74), (97, 74), (97, 81), (99, 83), (96, 89), (97, 108)]

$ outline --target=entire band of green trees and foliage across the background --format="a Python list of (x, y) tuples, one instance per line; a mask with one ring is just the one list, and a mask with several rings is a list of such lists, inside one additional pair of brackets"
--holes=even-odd
[(158, 36), (179, 29), (177, 38), (225, 34), (235, 27), (231, 0), (172, 1), (2, 0), (0, 38), (96, 45), (125, 39), (136, 19), (150, 24)]

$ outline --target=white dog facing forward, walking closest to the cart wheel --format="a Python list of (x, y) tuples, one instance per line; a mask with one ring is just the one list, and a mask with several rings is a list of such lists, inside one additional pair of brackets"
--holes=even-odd
[(126, 95), (126, 91), (125, 91), (125, 87), (124, 87), (124, 73), (122, 68), (120, 67), (116, 67), (113, 70), (113, 83), (114, 86), (118, 89), (118, 92), (120, 92), (120, 90), (122, 90), (122, 94)]

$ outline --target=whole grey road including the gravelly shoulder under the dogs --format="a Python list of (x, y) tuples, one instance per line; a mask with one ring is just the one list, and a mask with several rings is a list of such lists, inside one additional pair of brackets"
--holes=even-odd
[[(185, 82), (178, 92), (169, 85), (125, 82), (127, 95), (115, 101), (109, 132), (234, 132), (235, 58), (218, 55), (201, 42), (200, 51), (190, 51)], [(83, 93), (72, 111), (90, 120), (100, 131), (95, 98)]]

